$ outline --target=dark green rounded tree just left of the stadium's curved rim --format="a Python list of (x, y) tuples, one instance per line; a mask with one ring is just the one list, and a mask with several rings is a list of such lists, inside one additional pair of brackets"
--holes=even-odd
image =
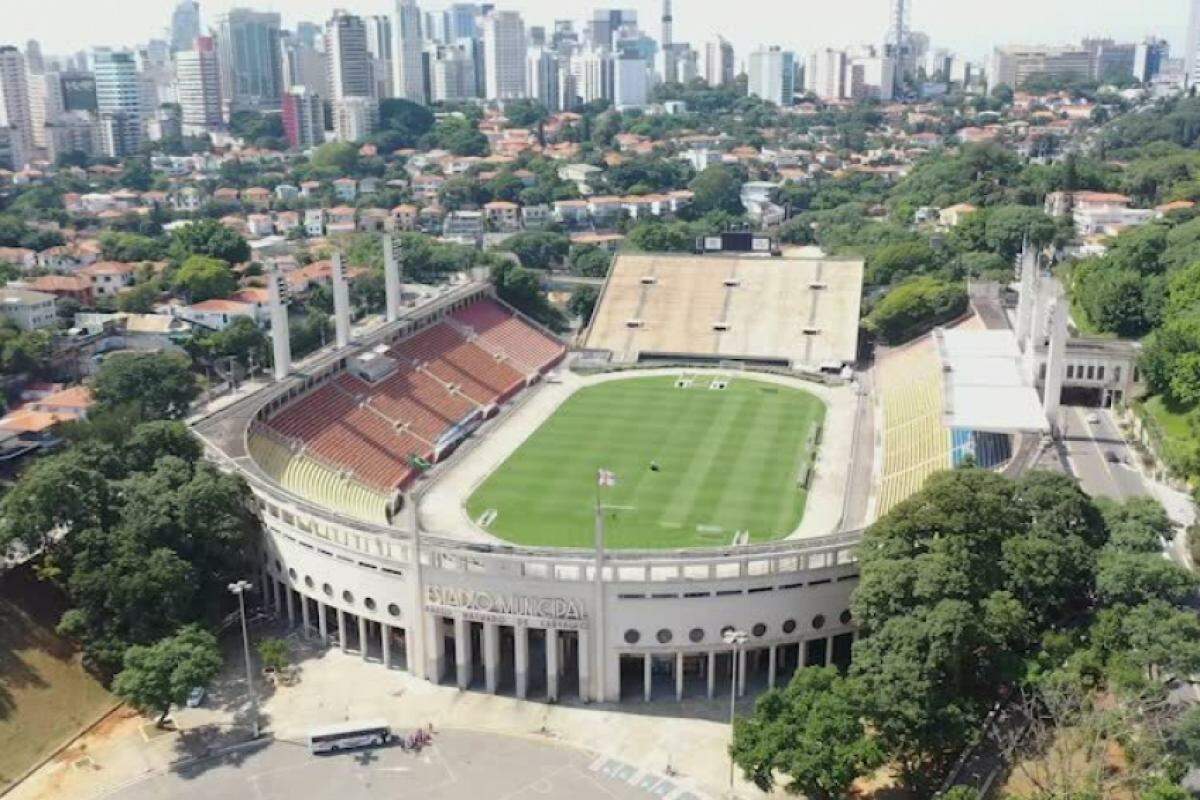
[(145, 420), (182, 419), (200, 393), (187, 359), (174, 353), (113, 354), (91, 389), (101, 408), (130, 404)]

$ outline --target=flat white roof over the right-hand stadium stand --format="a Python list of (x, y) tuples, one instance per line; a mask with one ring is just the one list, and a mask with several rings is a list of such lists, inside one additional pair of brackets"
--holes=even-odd
[(986, 433), (1045, 433), (1050, 426), (1010, 330), (935, 332), (946, 386), (946, 426)]

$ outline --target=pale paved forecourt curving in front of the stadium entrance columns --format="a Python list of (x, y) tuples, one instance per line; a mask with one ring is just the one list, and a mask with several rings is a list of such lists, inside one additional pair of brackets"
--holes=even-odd
[[(92, 800), (112, 793), (119, 798), (118, 790), (132, 781), (246, 741), (244, 681), (235, 676), (240, 661), (227, 663), (229, 678), (214, 690), (206, 708), (173, 711), (179, 732), (156, 732), (145, 718), (120, 709), (8, 798)], [(673, 770), (680, 786), (712, 798), (728, 796), (727, 699), (644, 705), (524, 702), (434, 686), (364, 662), (358, 654), (316, 648), (306, 650), (298, 667), (294, 685), (260, 696), (264, 732), (278, 740), (302, 742), (312, 727), (350, 718), (382, 716), (400, 730), (432, 722), (434, 728), (550, 738), (642, 770)], [(750, 703), (740, 704), (739, 714), (748, 714)], [(737, 796), (764, 795), (739, 778)]]

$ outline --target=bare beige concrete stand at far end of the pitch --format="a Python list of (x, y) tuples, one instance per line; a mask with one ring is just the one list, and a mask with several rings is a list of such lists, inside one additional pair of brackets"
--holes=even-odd
[(860, 259), (623, 253), (584, 347), (623, 363), (841, 367), (858, 355), (862, 290)]

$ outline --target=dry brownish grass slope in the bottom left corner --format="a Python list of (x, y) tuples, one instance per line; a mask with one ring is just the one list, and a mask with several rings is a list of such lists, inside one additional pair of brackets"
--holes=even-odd
[(114, 703), (54, 633), (60, 613), (28, 572), (0, 582), (0, 792)]

